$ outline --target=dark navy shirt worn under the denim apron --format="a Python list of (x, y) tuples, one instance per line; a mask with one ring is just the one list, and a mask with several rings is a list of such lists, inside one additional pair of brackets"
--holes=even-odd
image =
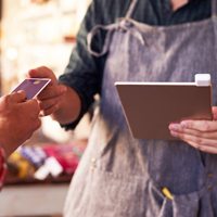
[[(81, 99), (79, 118), (93, 102), (93, 95), (101, 92), (101, 81), (106, 55), (94, 58), (87, 50), (87, 34), (97, 25), (117, 22), (127, 13), (131, 0), (93, 0), (88, 9), (77, 36), (77, 43), (72, 52), (65, 73), (60, 77), (63, 82), (74, 88)], [(177, 25), (210, 17), (210, 0), (191, 0), (177, 11), (173, 11), (170, 0), (138, 0), (133, 20), (153, 26)], [(93, 47), (102, 48), (104, 34), (97, 37)], [(74, 128), (79, 118), (66, 129)]]

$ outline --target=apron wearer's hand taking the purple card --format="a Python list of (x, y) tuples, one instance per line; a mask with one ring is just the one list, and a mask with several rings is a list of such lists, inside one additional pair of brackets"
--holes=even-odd
[(51, 82), (37, 97), (37, 100), (39, 101), (39, 105), (41, 110), (40, 114), (42, 116), (51, 115), (54, 112), (56, 112), (62, 102), (62, 98), (67, 90), (66, 86), (60, 85), (58, 82), (58, 79), (54, 73), (46, 66), (30, 69), (28, 72), (28, 76), (30, 78), (50, 78), (51, 79)]

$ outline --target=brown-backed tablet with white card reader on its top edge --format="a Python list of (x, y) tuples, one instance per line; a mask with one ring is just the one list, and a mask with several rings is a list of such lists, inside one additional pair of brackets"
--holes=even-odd
[(210, 76), (197, 74), (195, 82), (115, 82), (123, 110), (137, 139), (177, 140), (170, 123), (212, 119)]

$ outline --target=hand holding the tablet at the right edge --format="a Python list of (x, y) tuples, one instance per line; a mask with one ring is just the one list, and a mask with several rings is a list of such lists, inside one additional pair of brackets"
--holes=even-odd
[(170, 124), (171, 136), (203, 152), (217, 154), (217, 107), (213, 107), (214, 120), (183, 120)]

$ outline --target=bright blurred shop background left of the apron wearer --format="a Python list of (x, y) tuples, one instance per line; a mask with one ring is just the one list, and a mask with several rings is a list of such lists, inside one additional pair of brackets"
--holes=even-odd
[[(0, 1), (1, 95), (17, 86), (29, 68), (46, 65), (56, 76), (64, 72), (90, 2)], [(62, 216), (65, 194), (89, 130), (88, 114), (74, 131), (65, 131), (50, 117), (42, 118), (41, 128), (8, 159), (0, 216)]]

